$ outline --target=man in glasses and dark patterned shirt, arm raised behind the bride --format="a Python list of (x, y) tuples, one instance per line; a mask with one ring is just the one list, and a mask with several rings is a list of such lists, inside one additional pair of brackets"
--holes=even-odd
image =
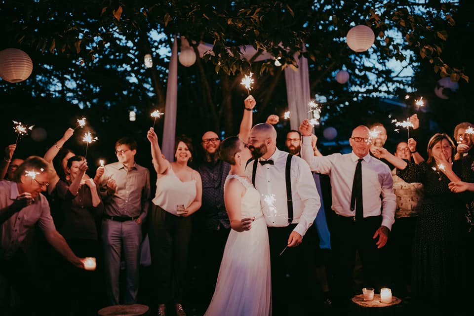
[[(251, 95), (244, 100), (238, 137), (245, 143), (252, 127), (252, 112), (255, 105), (256, 101)], [(193, 240), (196, 246), (190, 248), (194, 248), (192, 261), (202, 269), (198, 275), (203, 278), (197, 283), (204, 285), (199, 287), (203, 298), (198, 302), (203, 309), (207, 308), (214, 293), (224, 247), (231, 231), (224, 205), (224, 183), (231, 166), (218, 155), (220, 142), (219, 136), (213, 131), (207, 131), (202, 135), (204, 159), (197, 166), (202, 180), (202, 206), (196, 214), (197, 225), (194, 225)]]

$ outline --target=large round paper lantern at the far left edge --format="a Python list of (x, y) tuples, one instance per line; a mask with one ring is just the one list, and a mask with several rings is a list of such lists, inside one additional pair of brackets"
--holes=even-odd
[(33, 62), (21, 49), (7, 48), (0, 51), (0, 77), (8, 82), (20, 82), (30, 77)]

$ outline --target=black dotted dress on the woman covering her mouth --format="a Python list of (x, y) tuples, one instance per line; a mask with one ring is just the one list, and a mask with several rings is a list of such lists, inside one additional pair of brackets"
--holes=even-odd
[[(406, 182), (423, 183), (425, 190), (413, 240), (412, 290), (419, 299), (439, 303), (464, 288), (465, 195), (452, 193), (450, 180), (432, 165), (407, 163), (397, 175)], [(469, 172), (462, 169), (460, 160), (453, 163), (461, 179)]]

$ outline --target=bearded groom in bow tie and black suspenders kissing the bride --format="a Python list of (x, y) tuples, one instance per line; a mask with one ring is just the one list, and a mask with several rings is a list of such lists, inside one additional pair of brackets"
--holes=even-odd
[(314, 300), (308, 289), (316, 287), (314, 228), (308, 229), (320, 201), (313, 175), (302, 158), (276, 148), (276, 130), (268, 123), (252, 128), (248, 148), (254, 160), (246, 174), (260, 193), (268, 226), (273, 315), (295, 315), (289, 314), (289, 306), (298, 309), (298, 315), (314, 314), (314, 305), (308, 304)]

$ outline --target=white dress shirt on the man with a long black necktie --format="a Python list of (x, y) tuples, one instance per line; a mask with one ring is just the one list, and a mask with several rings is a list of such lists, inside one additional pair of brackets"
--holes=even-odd
[[(331, 177), (332, 209), (341, 216), (356, 216), (351, 211), (352, 185), (359, 157), (354, 154), (332, 154), (315, 157), (311, 147), (311, 136), (303, 136), (301, 157), (312, 171)], [(392, 229), (395, 222), (396, 197), (394, 180), (390, 168), (382, 161), (367, 154), (362, 161), (362, 201), (364, 217), (378, 216), (382, 211), (382, 225)], [(382, 195), (382, 200), (380, 199)]]

